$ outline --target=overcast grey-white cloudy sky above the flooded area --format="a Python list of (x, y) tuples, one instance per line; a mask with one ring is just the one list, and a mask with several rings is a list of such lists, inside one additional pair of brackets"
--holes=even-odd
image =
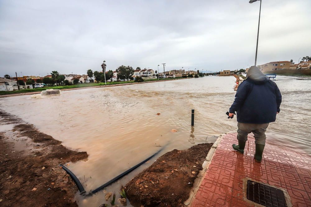
[[(260, 2), (0, 0), (0, 76), (254, 64)], [(310, 0), (263, 0), (257, 64), (311, 56)]]

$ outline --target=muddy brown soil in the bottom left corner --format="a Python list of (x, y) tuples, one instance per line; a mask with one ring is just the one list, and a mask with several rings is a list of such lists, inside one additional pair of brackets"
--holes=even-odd
[[(12, 130), (0, 132), (0, 206), (77, 206), (74, 195), (78, 189), (59, 164), (85, 160), (87, 153), (67, 149), (3, 111), (0, 123), (16, 124)], [(17, 150), (21, 142), (26, 146)]]

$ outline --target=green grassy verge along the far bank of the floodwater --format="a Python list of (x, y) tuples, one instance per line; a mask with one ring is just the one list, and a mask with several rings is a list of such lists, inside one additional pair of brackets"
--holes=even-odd
[[(172, 79), (181, 79), (181, 78), (160, 78), (159, 80), (172, 80)], [(144, 82), (149, 81), (156, 81), (158, 79), (148, 79), (144, 80)], [(115, 85), (115, 84), (126, 84), (126, 83), (134, 83), (133, 80), (130, 81), (121, 81), (121, 82), (107, 82), (106, 85)], [(105, 83), (82, 83), (77, 85), (71, 85), (71, 86), (50, 86), (50, 87), (44, 87), (44, 88), (32, 88), (32, 89), (21, 89), (16, 91), (0, 91), (0, 95), (7, 95), (7, 94), (16, 94), (16, 93), (27, 93), (27, 92), (38, 92), (38, 91), (44, 91), (46, 89), (70, 89), (70, 88), (85, 88), (85, 87), (94, 87), (94, 86), (104, 86)]]

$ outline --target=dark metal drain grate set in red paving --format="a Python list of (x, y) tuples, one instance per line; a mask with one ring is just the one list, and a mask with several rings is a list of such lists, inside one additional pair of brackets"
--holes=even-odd
[(284, 192), (251, 180), (247, 181), (247, 199), (264, 206), (286, 207)]

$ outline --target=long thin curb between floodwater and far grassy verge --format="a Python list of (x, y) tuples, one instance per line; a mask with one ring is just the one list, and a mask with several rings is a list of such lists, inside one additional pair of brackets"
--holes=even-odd
[[(182, 79), (191, 79), (191, 78), (180, 78), (180, 79), (169, 79), (169, 80), (153, 80), (153, 81), (146, 81), (146, 82), (141, 82), (141, 83), (154, 83), (154, 82), (162, 82), (162, 81), (170, 81), (170, 80), (182, 80)], [(126, 85), (141, 84), (141, 83), (121, 83), (121, 84), (114, 84), (114, 85), (111, 84), (111, 85), (90, 86), (90, 87), (83, 87), (83, 88), (67, 88), (67, 89), (60, 89), (60, 90), (61, 91), (71, 91), (71, 90), (86, 89), (86, 88), (104, 88), (104, 87), (126, 86)], [(41, 91), (0, 95), (0, 98), (1, 97), (10, 97), (10, 96), (32, 95), (32, 94), (38, 94), (38, 93), (41, 93)]]

